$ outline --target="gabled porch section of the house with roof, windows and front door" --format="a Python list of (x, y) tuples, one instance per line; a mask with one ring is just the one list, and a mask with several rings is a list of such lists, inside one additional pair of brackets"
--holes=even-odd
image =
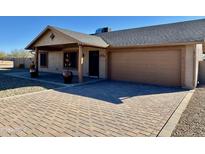
[(69, 69), (81, 83), (107, 78), (107, 46), (100, 37), (48, 26), (26, 49), (35, 53), (37, 72), (62, 74)]

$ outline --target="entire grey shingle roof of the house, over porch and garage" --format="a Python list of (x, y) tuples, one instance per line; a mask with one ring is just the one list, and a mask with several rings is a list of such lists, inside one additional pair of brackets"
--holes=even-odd
[(76, 40), (76, 43), (104, 48), (108, 46), (126, 47), (176, 43), (183, 44), (187, 42), (204, 42), (205, 40), (205, 19), (125, 29), (95, 35), (83, 34), (67, 29), (48, 26), (26, 47), (26, 49), (32, 49), (33, 44), (49, 28), (55, 29), (73, 38)]

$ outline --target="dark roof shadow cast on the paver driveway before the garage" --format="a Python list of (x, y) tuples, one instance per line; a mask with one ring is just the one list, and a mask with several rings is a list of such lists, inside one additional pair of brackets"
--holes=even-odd
[(121, 104), (124, 99), (134, 96), (174, 93), (185, 90), (179, 87), (162, 87), (108, 80), (83, 86), (62, 88), (57, 91)]

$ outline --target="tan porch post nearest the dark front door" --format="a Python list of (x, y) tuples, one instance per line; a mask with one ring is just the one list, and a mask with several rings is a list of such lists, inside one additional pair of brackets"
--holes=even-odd
[(78, 81), (83, 82), (83, 48), (81, 45), (78, 52)]

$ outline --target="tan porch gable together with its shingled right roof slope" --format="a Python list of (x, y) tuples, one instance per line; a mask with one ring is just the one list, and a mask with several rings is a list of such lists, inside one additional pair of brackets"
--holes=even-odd
[(57, 27), (47, 26), (27, 47), (33, 49), (40, 46), (51, 46), (60, 44), (77, 43), (81, 45), (92, 45), (107, 47), (108, 44), (98, 36), (82, 34)]

